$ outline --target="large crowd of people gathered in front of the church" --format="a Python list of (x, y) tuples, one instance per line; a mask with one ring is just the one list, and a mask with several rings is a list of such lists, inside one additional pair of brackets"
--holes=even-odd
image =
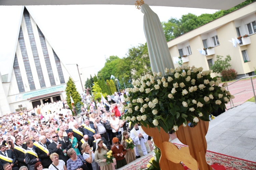
[(82, 94), (76, 119), (66, 101), (0, 116), (0, 170), (112, 170), (104, 156), (110, 150), (116, 168), (151, 152), (140, 126), (120, 119), (124, 94), (108, 96), (108, 104)]

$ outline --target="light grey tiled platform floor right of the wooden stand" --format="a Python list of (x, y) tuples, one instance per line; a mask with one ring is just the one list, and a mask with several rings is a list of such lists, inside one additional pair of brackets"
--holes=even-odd
[[(210, 122), (205, 137), (209, 151), (256, 162), (256, 104), (246, 102), (222, 113)], [(177, 138), (172, 142), (182, 144)]]

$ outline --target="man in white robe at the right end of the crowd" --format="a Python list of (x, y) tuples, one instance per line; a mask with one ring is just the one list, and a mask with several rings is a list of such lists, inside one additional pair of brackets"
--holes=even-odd
[[(130, 132), (130, 138), (133, 140), (135, 146), (136, 156), (143, 156), (150, 153), (150, 147), (147, 143), (148, 135), (143, 131), (143, 129), (138, 126), (139, 130), (133, 128)], [(139, 138), (138, 135), (142, 134), (144, 138)]]

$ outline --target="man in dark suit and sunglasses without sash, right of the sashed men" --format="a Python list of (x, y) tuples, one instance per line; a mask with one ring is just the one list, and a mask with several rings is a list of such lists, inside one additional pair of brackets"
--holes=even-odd
[(52, 134), (52, 139), (53, 142), (48, 146), (49, 153), (52, 154), (55, 152), (59, 155), (60, 160), (67, 162), (69, 158), (67, 156), (68, 148), (65, 142), (59, 141), (58, 136), (56, 134)]

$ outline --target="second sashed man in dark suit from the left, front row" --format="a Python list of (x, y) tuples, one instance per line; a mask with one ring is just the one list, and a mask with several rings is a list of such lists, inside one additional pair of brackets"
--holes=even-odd
[[(22, 143), (22, 140), (20, 138), (15, 139), (16, 146), (14, 147), (14, 154), (17, 157), (18, 160), (18, 166), (28, 166), (25, 163), (25, 151), (27, 150), (26, 144)], [(18, 146), (18, 147), (17, 147)]]

